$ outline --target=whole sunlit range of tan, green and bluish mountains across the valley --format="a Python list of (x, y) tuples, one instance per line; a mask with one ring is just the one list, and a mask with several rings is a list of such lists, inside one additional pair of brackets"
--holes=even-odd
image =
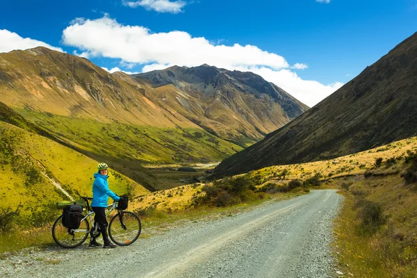
[(308, 109), (249, 72), (203, 65), (132, 77), (44, 47), (0, 54), (0, 94), (32, 131), (151, 189), (143, 163), (221, 161)]

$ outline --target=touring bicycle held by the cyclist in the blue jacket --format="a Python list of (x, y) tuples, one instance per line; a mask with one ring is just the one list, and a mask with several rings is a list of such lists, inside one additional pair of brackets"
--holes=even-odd
[[(84, 243), (90, 236), (97, 238), (100, 235), (99, 225), (95, 224), (92, 215), (95, 214), (90, 208), (89, 200), (91, 197), (81, 197), (87, 204), (87, 215), (82, 215), (81, 223), (78, 229), (68, 229), (63, 225), (63, 215), (58, 217), (52, 225), (52, 238), (56, 244), (64, 248), (74, 248)], [(83, 208), (84, 210), (85, 208)], [(117, 214), (111, 218), (108, 224), (108, 236), (117, 245), (131, 245), (134, 243), (140, 235), (142, 230), (142, 224), (138, 215), (130, 211), (123, 211), (117, 207), (117, 202), (113, 202), (107, 206), (106, 217), (108, 217), (112, 211), (117, 210)], [(90, 229), (90, 220), (92, 229)]]

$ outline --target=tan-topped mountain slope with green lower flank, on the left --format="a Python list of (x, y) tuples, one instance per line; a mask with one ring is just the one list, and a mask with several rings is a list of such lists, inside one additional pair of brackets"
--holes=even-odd
[(129, 177), (140, 163), (220, 161), (242, 149), (159, 107), (145, 96), (152, 90), (44, 47), (0, 54), (1, 101), (83, 154), (129, 168)]

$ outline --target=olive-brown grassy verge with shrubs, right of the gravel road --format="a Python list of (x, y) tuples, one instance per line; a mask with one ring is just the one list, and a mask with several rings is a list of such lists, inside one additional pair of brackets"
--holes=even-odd
[(334, 229), (334, 250), (343, 272), (354, 277), (416, 277), (416, 193), (400, 174), (349, 181), (353, 183), (349, 191), (343, 190), (345, 202)]

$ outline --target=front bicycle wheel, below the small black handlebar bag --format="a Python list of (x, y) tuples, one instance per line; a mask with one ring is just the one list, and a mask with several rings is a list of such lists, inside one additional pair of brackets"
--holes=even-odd
[(138, 215), (130, 211), (119, 211), (108, 224), (108, 236), (117, 245), (134, 243), (142, 230)]

